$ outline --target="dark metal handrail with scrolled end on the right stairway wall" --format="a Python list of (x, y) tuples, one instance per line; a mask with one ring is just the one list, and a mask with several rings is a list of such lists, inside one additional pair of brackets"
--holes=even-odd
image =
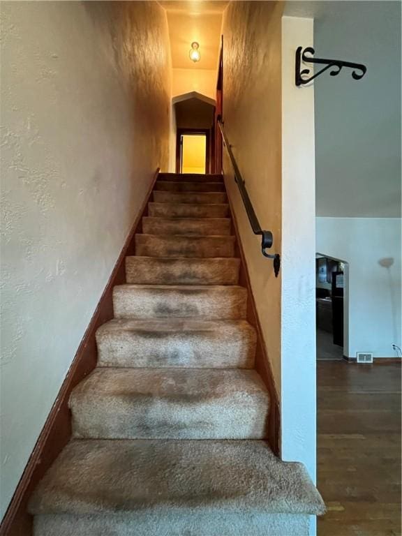
[(274, 272), (275, 272), (275, 276), (278, 277), (279, 269), (281, 267), (281, 256), (278, 253), (269, 254), (267, 253), (267, 251), (265, 251), (267, 248), (272, 247), (272, 244), (274, 243), (274, 236), (271, 231), (265, 231), (261, 229), (261, 225), (260, 225), (260, 222), (258, 221), (257, 215), (255, 214), (253, 204), (251, 204), (251, 200), (248, 197), (244, 179), (243, 177), (241, 177), (239, 167), (234, 158), (232, 147), (230, 146), (230, 143), (228, 142), (228, 137), (225, 134), (223, 121), (220, 119), (220, 117), (218, 117), (217, 121), (218, 121), (219, 130), (221, 131), (223, 144), (225, 145), (226, 150), (228, 151), (230, 162), (232, 163), (232, 168), (234, 170), (234, 180), (236, 181), (237, 186), (239, 186), (239, 192), (241, 195), (241, 199), (243, 200), (244, 208), (246, 209), (246, 213), (248, 216), (248, 221), (250, 222), (250, 225), (251, 225), (251, 229), (253, 230), (254, 234), (260, 234), (262, 255), (264, 255), (265, 257), (269, 259), (274, 259)]

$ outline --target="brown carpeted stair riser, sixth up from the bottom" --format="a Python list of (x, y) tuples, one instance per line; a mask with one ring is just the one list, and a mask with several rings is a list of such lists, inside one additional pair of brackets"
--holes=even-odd
[(179, 237), (136, 234), (135, 253), (143, 257), (233, 257), (234, 237)]

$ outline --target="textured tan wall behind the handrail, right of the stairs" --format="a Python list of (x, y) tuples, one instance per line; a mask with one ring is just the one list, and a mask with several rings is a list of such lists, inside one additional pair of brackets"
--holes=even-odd
[[(223, 119), (262, 228), (281, 252), (281, 2), (231, 2), (223, 15)], [(225, 151), (224, 151), (225, 155)], [(262, 256), (227, 156), (223, 163), (276, 389), (281, 387), (281, 276)]]

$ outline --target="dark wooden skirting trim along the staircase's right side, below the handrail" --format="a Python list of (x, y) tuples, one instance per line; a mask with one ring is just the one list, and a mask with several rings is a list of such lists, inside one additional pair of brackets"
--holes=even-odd
[(230, 207), (232, 228), (234, 236), (236, 237), (234, 256), (238, 256), (240, 258), (239, 285), (242, 285), (247, 289), (246, 320), (255, 328), (255, 331), (257, 332), (257, 345), (255, 348), (255, 370), (260, 374), (262, 380), (264, 381), (270, 397), (269, 422), (267, 426), (268, 442), (272, 452), (274, 452), (276, 456), (280, 457), (279, 433), (281, 417), (279, 412), (278, 392), (276, 392), (274, 374), (272, 373), (271, 365), (269, 364), (267, 347), (265, 345), (264, 336), (262, 334), (260, 319), (258, 318), (257, 313), (257, 307), (255, 306), (253, 290), (251, 289), (250, 274), (248, 272), (246, 255), (244, 254), (244, 249), (241, 245), (239, 227), (237, 225), (237, 217), (234, 213), (232, 200), (230, 199), (228, 188), (226, 188), (226, 195), (228, 197), (228, 204)]

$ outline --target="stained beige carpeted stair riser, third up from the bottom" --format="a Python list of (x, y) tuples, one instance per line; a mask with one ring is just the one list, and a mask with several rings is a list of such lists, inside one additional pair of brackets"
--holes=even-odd
[(96, 333), (98, 366), (253, 368), (255, 332)]

